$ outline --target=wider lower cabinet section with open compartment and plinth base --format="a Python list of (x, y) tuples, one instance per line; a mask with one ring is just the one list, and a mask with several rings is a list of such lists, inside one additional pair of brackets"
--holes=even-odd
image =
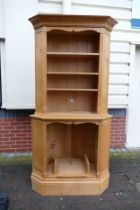
[(100, 194), (108, 186), (110, 118), (95, 121), (32, 116), (32, 188), (43, 195)]

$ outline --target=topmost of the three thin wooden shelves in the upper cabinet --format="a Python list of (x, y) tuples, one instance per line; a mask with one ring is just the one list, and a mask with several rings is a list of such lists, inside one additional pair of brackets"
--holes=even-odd
[(77, 57), (91, 57), (91, 56), (99, 56), (99, 53), (79, 53), (79, 52), (47, 52), (48, 56), (77, 56)]

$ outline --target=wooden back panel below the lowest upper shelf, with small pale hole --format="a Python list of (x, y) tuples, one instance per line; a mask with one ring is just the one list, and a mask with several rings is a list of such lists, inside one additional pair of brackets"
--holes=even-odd
[(97, 92), (49, 91), (48, 112), (96, 112)]

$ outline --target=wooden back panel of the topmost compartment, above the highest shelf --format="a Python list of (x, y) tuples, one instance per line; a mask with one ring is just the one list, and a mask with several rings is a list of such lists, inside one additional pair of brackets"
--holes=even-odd
[(49, 52), (89, 52), (99, 51), (99, 34), (82, 32), (54, 33), (47, 35)]

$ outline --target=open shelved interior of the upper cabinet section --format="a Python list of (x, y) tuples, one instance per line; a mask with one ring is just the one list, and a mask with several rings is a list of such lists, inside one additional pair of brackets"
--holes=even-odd
[[(89, 92), (98, 91), (98, 76), (83, 77), (79, 72), (98, 73), (99, 34), (56, 30), (48, 32), (47, 37), (48, 73), (53, 72), (47, 76), (48, 111), (96, 112), (98, 94)], [(75, 75), (54, 74), (62, 71)]]

